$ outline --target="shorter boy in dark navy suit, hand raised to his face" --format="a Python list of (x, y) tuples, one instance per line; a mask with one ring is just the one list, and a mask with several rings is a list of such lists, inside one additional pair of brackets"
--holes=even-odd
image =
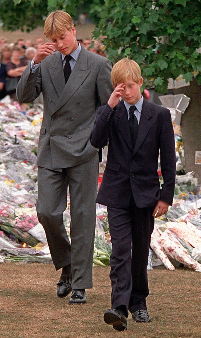
[(167, 213), (172, 205), (175, 142), (170, 111), (140, 94), (143, 79), (139, 65), (122, 59), (114, 65), (111, 78), (115, 90), (98, 109), (90, 141), (97, 148), (108, 144), (106, 169), (96, 198), (107, 206), (112, 243), (112, 309), (105, 311), (104, 320), (124, 331), (128, 311), (136, 322), (150, 321), (146, 307), (150, 237), (154, 216)]

